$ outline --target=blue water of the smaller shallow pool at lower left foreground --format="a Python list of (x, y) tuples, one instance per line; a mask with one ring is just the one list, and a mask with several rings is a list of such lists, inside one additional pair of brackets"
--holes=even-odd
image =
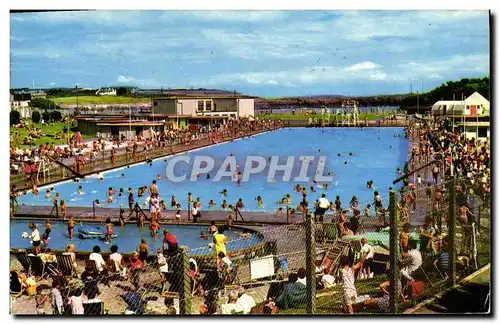
[[(28, 220), (11, 220), (10, 222), (10, 247), (11, 248), (31, 248), (32, 245), (29, 239), (23, 239), (22, 233), (31, 233), (28, 228)], [(44, 221), (35, 221), (38, 224), (40, 233), (44, 231)], [(99, 227), (99, 224), (86, 224), (85, 226)], [(161, 225), (158, 238), (154, 240), (147, 227), (139, 228), (135, 224), (125, 224), (123, 228), (114, 226), (113, 232), (118, 234), (118, 238), (113, 239), (111, 244), (104, 243), (101, 239), (81, 239), (78, 235), (78, 225), (75, 226), (73, 232), (73, 240), (69, 240), (67, 224), (62, 222), (52, 223), (52, 232), (48, 241), (48, 247), (52, 250), (64, 250), (66, 244), (72, 243), (75, 245), (76, 251), (92, 251), (94, 245), (99, 245), (101, 251), (109, 251), (111, 245), (116, 244), (119, 251), (122, 253), (130, 253), (135, 251), (139, 245), (141, 238), (147, 238), (150, 254), (155, 254), (157, 248), (161, 248), (163, 239), (163, 230), (168, 228), (169, 232), (177, 237), (179, 245), (188, 246), (190, 251), (195, 254), (209, 254), (208, 244), (211, 242), (211, 236), (208, 240), (200, 238), (200, 231), (207, 233), (207, 226), (199, 225)], [(101, 227), (102, 228), (102, 227)], [(102, 229), (103, 230), (103, 229)], [(252, 235), (248, 238), (239, 237), (240, 230), (225, 231), (229, 244), (226, 246), (229, 251), (249, 248), (258, 244), (261, 241), (260, 235)]]

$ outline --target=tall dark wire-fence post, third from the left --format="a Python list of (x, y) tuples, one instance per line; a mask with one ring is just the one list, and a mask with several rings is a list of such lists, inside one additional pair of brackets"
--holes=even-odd
[(389, 310), (392, 314), (397, 313), (398, 309), (398, 281), (400, 280), (399, 278), (399, 264), (398, 264), (398, 256), (399, 256), (399, 251), (398, 251), (398, 214), (397, 214), (397, 202), (396, 202), (396, 193), (394, 191), (389, 191), (389, 217), (390, 217), (390, 267), (391, 267), (391, 274), (390, 274), (390, 282), (391, 282), (391, 287), (389, 290), (390, 294), (390, 307)]

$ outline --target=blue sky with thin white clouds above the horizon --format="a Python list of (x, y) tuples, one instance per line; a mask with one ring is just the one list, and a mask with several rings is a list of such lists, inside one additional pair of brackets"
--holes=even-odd
[(489, 74), (487, 11), (11, 14), (11, 87), (375, 95)]

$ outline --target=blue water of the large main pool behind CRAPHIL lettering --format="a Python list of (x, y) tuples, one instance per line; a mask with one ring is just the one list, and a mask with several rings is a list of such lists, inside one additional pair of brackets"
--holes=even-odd
[[(321, 151), (319, 151), (321, 150)], [(312, 182), (301, 183), (308, 188), (310, 202), (319, 198), (322, 193), (326, 193), (330, 200), (334, 200), (339, 195), (346, 205), (353, 195), (358, 197), (361, 204), (370, 203), (373, 200), (373, 190), (366, 188), (366, 182), (373, 180), (375, 188), (378, 189), (383, 198), (387, 198), (388, 188), (392, 180), (398, 175), (397, 168), (403, 168), (407, 156), (408, 144), (404, 138), (402, 128), (293, 128), (281, 129), (274, 132), (268, 132), (252, 138), (237, 140), (230, 143), (211, 146), (201, 150), (187, 153), (191, 158), (196, 155), (211, 156), (216, 161), (216, 166), (230, 154), (234, 154), (236, 161), (243, 168), (244, 158), (246, 156), (281, 156), (280, 164), (286, 163), (286, 157), (297, 156), (294, 164), (294, 170), (300, 171), (300, 161), (298, 156), (326, 156), (325, 171), (334, 172), (334, 179), (330, 188), (323, 189), (316, 187), (316, 192), (311, 193), (309, 187)], [(352, 152), (353, 156), (349, 156)], [(339, 157), (338, 154), (341, 154)], [(80, 183), (67, 182), (54, 185), (55, 191), (61, 193), (61, 199), (64, 199), (68, 206), (86, 206), (92, 207), (92, 201), (99, 199), (101, 207), (118, 207), (119, 205), (128, 206), (127, 189), (134, 189), (135, 199), (143, 203), (146, 197), (137, 197), (137, 188), (139, 186), (149, 186), (151, 181), (156, 179), (157, 174), (165, 177), (165, 167), (169, 158), (158, 159), (153, 165), (139, 164), (130, 168), (122, 168), (102, 174), (103, 181), (100, 182), (97, 176), (82, 179)], [(317, 163), (311, 163), (310, 170), (316, 170)], [(347, 162), (347, 164), (345, 164)], [(178, 163), (175, 168), (175, 174), (181, 175), (187, 171), (185, 164)], [(301, 194), (293, 190), (297, 184), (294, 181), (284, 183), (280, 181), (280, 174), (277, 173), (277, 181), (267, 182), (267, 172), (252, 175), (249, 182), (243, 182), (241, 186), (236, 185), (229, 177), (222, 178), (219, 182), (214, 182), (213, 178), (217, 170), (211, 172), (212, 179), (206, 179), (205, 175), (197, 182), (184, 181), (173, 183), (165, 178), (158, 181), (158, 187), (161, 197), (170, 208), (170, 198), (175, 194), (180, 201), (183, 209), (187, 207), (186, 200), (188, 192), (193, 194), (196, 199), (200, 197), (202, 210), (209, 209), (208, 201), (213, 199), (217, 207), (213, 209), (220, 210), (220, 204), (226, 199), (229, 204), (234, 204), (239, 198), (243, 198), (245, 204), (244, 211), (275, 211), (277, 202), (287, 193), (292, 197), (292, 205), (296, 206)], [(121, 174), (124, 177), (121, 177)], [(189, 173), (190, 174), (190, 173)], [(293, 178), (292, 178), (293, 179)], [(83, 186), (83, 195), (77, 194), (79, 185)], [(115, 195), (115, 202), (104, 203), (108, 187), (118, 191), (123, 188), (125, 194), (119, 197)], [(40, 189), (40, 194), (35, 197), (33, 194), (27, 194), (20, 197), (19, 201), (26, 205), (51, 205), (50, 199), (45, 199), (44, 192), (46, 188)], [(219, 194), (223, 189), (227, 189), (227, 198)], [(260, 195), (263, 198), (264, 206), (258, 207), (255, 197)]]

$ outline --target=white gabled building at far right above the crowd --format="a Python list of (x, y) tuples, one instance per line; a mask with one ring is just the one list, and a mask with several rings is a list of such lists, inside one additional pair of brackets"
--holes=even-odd
[(434, 116), (448, 117), (452, 127), (462, 129), (467, 138), (490, 137), (490, 102), (474, 92), (465, 100), (441, 100), (431, 109)]

